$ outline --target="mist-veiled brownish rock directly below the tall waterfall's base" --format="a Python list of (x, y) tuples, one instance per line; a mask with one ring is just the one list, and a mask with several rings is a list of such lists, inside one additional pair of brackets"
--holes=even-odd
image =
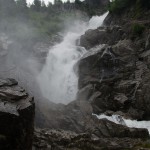
[(68, 105), (53, 104), (51, 106), (44, 107), (47, 109), (43, 113), (43, 123), (40, 128), (62, 129), (81, 133), (87, 126), (94, 124), (92, 107), (86, 101), (76, 100)]

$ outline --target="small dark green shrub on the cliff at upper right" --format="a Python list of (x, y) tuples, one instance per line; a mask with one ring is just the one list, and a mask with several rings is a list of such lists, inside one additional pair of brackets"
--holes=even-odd
[(145, 26), (135, 23), (131, 26), (131, 30), (134, 35), (141, 35), (145, 30)]

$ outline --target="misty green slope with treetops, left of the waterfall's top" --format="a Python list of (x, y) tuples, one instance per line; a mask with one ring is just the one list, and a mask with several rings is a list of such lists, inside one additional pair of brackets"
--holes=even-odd
[[(106, 4), (108, 0), (106, 1)], [(99, 0), (55, 0), (46, 5), (42, 0), (34, 0), (27, 5), (26, 0), (0, 1), (0, 31), (17, 40), (37, 41), (52, 37), (62, 31), (68, 20), (85, 19), (85, 14), (93, 15), (105, 3)], [(105, 5), (106, 5), (105, 4)], [(82, 13), (81, 13), (82, 12)], [(72, 22), (72, 21), (70, 21)]]

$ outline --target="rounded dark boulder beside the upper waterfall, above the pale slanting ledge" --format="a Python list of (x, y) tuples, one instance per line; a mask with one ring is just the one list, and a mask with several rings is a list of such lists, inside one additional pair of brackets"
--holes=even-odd
[(124, 34), (120, 26), (99, 27), (86, 31), (80, 38), (80, 46), (90, 49), (100, 44), (114, 45), (117, 41), (124, 39)]

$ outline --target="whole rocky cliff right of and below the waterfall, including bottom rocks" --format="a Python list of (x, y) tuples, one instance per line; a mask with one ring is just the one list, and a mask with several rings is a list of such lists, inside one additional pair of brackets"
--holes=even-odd
[(109, 15), (107, 26), (88, 30), (81, 36), (80, 44), (87, 53), (77, 64), (77, 100), (67, 106), (53, 105), (47, 109), (44, 115), (49, 118), (45, 127), (56, 130), (36, 130), (36, 150), (149, 147), (146, 129), (128, 128), (92, 115), (104, 113), (128, 119), (150, 119), (149, 26), (147, 22), (140, 22), (146, 29), (136, 34), (131, 28), (132, 21), (115, 19)]

